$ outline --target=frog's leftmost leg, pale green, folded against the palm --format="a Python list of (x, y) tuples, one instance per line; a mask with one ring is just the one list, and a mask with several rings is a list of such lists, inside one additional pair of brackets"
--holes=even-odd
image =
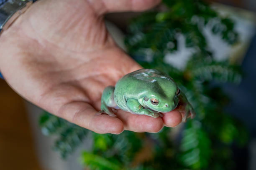
[(117, 107), (114, 100), (114, 86), (108, 86), (103, 90), (101, 96), (101, 111), (100, 113), (107, 113), (110, 116), (115, 117), (116, 115), (113, 113), (113, 110), (110, 107)]

